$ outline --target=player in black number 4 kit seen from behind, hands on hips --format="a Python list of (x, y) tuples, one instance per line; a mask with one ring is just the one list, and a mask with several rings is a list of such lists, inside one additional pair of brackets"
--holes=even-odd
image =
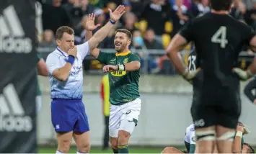
[[(200, 69), (203, 83), (191, 107), (197, 137), (195, 153), (213, 153), (216, 142), (219, 153), (232, 153), (232, 140), (241, 114), (240, 78), (256, 73), (256, 62), (247, 71), (234, 68), (243, 45), (256, 51), (255, 32), (251, 27), (229, 16), (232, 0), (211, 0), (211, 12), (192, 19), (173, 37), (167, 55), (177, 71), (192, 80)], [(189, 71), (179, 51), (194, 42), (200, 68)]]

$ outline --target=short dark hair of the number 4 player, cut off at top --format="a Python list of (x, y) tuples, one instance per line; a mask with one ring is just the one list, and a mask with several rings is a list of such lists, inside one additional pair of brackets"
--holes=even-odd
[(211, 9), (228, 11), (233, 0), (210, 0)]

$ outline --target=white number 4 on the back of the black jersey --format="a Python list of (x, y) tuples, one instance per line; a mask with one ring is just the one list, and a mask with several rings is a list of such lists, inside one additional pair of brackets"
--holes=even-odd
[(211, 42), (220, 43), (221, 48), (225, 48), (228, 43), (228, 40), (226, 40), (226, 27), (221, 26), (213, 37), (211, 37)]

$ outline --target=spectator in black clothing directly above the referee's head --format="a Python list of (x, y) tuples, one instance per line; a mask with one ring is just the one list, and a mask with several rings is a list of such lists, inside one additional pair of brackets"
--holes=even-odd
[(61, 7), (61, 0), (53, 0), (52, 4), (43, 4), (43, 30), (52, 30), (56, 33), (58, 27), (71, 27), (71, 19), (66, 10)]

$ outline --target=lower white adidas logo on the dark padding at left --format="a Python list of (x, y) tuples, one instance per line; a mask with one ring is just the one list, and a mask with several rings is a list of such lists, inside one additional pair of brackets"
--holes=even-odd
[(13, 84), (4, 87), (0, 94), (0, 132), (30, 132), (32, 119), (25, 111)]

